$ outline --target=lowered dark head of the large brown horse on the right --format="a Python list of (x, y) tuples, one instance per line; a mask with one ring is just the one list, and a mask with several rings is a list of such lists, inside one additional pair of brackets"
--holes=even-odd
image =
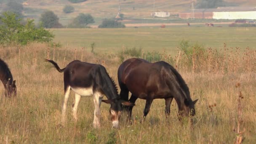
[(194, 116), (195, 115), (195, 104), (198, 101), (198, 99), (196, 99), (195, 101), (192, 100), (184, 100), (184, 105), (183, 107), (181, 107), (181, 110), (183, 110), (183, 112), (180, 112), (179, 114), (181, 116)]

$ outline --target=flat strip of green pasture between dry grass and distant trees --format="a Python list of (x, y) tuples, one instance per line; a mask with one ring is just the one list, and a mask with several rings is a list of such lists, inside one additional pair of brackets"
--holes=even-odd
[(203, 44), (205, 48), (256, 48), (256, 28), (253, 27), (139, 27), (123, 29), (51, 29), (54, 42), (68, 48), (85, 47), (95, 51), (116, 53), (123, 48), (142, 48), (144, 51), (177, 51), (181, 40)]

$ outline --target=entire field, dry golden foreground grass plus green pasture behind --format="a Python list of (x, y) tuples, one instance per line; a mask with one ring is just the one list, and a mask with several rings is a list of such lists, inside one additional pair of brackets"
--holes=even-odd
[[(0, 143), (230, 144), (239, 136), (238, 125), (240, 132), (244, 131), (243, 142), (255, 143), (255, 28), (145, 27), (53, 29), (53, 32), (54, 41), (62, 47), (37, 43), (0, 47), (0, 58), (8, 63), (18, 88), (16, 97), (5, 98), (0, 85)], [(212, 49), (193, 51), (189, 59), (176, 48), (183, 39)], [(91, 43), (95, 43), (95, 53), (91, 53)], [(74, 93), (71, 93), (67, 124), (59, 127), (64, 99), (63, 74), (43, 59), (53, 59), (61, 68), (74, 59), (102, 64), (117, 83), (117, 68), (121, 63), (117, 52), (126, 47), (159, 51), (162, 60), (176, 67), (189, 86), (192, 99), (199, 99), (193, 125), (186, 119), (183, 124), (179, 122), (175, 101), (171, 104), (170, 117), (166, 118), (163, 99), (153, 101), (146, 120), (140, 123), (145, 101), (139, 99), (133, 108), (133, 125), (126, 122), (123, 113), (120, 129), (113, 129), (109, 105), (101, 104), (101, 128), (94, 129), (93, 98), (81, 99), (75, 123), (71, 115)], [(238, 99), (243, 121), (238, 120)]]

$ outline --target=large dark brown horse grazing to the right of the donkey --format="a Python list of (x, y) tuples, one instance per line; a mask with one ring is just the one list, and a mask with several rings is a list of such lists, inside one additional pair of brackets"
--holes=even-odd
[[(129, 91), (132, 93), (129, 102), (146, 100), (144, 118), (149, 113), (154, 99), (165, 99), (165, 114), (170, 115), (173, 98), (176, 100), (180, 116), (194, 116), (195, 103), (190, 98), (189, 88), (181, 75), (165, 61), (149, 63), (144, 59), (128, 59), (118, 69), (118, 82), (121, 88), (120, 97), (127, 101)], [(126, 108), (131, 120), (133, 106)], [(181, 118), (179, 117), (179, 120)]]

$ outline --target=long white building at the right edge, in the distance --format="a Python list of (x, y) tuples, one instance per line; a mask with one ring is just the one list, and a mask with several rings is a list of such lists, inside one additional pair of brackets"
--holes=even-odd
[(213, 19), (256, 19), (256, 8), (216, 8)]

